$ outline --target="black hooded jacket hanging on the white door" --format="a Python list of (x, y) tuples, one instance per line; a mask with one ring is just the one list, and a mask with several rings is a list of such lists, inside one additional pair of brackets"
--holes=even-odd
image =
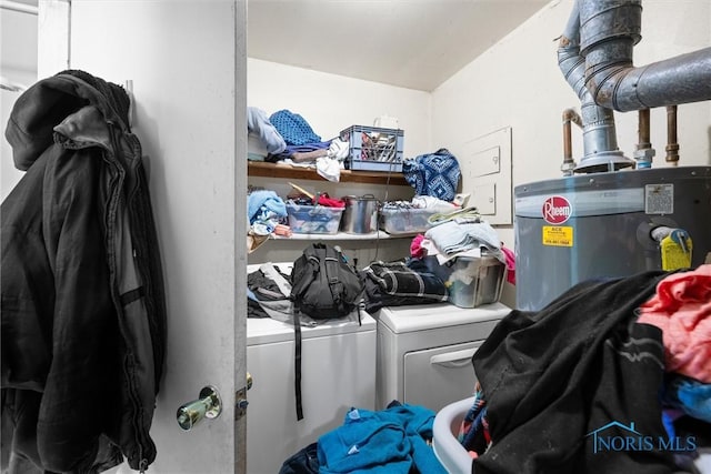
[(27, 171), (0, 209), (11, 470), (98, 472), (123, 456), (142, 470), (156, 457), (166, 306), (129, 103), (117, 84), (63, 71), (17, 100), (6, 130)]

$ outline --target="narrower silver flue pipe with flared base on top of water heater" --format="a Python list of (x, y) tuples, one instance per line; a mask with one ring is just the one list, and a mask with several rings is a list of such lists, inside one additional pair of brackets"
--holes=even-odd
[(558, 64), (580, 99), (583, 129), (583, 158), (575, 172), (614, 171), (634, 164), (618, 148), (613, 111), (598, 105), (585, 87), (585, 59), (580, 54), (579, 0), (560, 38)]

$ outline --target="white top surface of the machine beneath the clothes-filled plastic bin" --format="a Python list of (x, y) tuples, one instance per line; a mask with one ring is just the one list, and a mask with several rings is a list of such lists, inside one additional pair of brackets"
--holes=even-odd
[(502, 303), (459, 307), (450, 303), (385, 306), (375, 317), (395, 334), (500, 320), (511, 312)]

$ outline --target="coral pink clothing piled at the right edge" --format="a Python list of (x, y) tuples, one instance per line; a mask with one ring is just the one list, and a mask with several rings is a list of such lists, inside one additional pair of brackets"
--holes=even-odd
[(638, 322), (662, 330), (667, 372), (711, 383), (711, 264), (662, 280)]

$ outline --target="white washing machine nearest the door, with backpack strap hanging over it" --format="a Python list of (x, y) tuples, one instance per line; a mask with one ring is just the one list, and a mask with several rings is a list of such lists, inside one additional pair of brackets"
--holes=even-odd
[(349, 409), (374, 410), (375, 321), (333, 320), (302, 327), (301, 394), (297, 421), (293, 325), (247, 320), (247, 473), (277, 474), (288, 457), (343, 424)]

